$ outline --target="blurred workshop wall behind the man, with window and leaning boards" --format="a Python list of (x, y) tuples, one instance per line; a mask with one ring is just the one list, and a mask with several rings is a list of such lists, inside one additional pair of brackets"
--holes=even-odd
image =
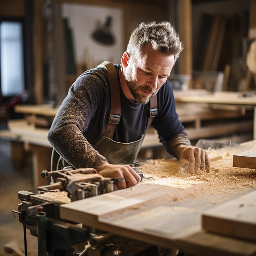
[(120, 63), (132, 30), (153, 20), (170, 20), (184, 43), (170, 77), (174, 88), (214, 90), (221, 77), (215, 89), (255, 89), (246, 65), (256, 36), (254, 0), (1, 0), (0, 5), (1, 106), (14, 96), (33, 104), (61, 103), (84, 70), (104, 60)]

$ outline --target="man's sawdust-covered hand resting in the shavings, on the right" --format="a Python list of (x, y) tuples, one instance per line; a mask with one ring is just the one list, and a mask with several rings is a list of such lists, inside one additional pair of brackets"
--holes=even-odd
[(210, 171), (210, 160), (202, 148), (180, 145), (177, 149), (182, 171), (199, 174)]

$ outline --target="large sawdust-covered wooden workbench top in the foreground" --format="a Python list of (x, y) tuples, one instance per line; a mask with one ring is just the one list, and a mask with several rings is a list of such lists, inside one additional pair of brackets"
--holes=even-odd
[[(151, 160), (138, 168), (153, 174), (153, 180), (62, 204), (61, 218), (197, 256), (256, 255), (256, 241), (201, 228), (204, 211), (255, 191), (256, 170), (232, 168), (232, 153), (255, 146), (256, 141), (251, 141), (238, 148), (222, 148), (215, 151), (218, 157), (209, 152), (211, 171), (198, 175), (180, 173), (177, 160), (168, 160), (169, 168), (164, 160)], [(254, 203), (249, 214), (252, 212), (255, 216)]]

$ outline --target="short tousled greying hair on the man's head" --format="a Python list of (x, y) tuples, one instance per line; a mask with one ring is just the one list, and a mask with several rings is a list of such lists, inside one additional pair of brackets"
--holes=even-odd
[(182, 43), (174, 27), (170, 22), (163, 21), (160, 23), (141, 22), (132, 32), (127, 52), (130, 57), (139, 57), (141, 50), (147, 44), (151, 44), (153, 49), (167, 55), (174, 56), (174, 63), (183, 49)]

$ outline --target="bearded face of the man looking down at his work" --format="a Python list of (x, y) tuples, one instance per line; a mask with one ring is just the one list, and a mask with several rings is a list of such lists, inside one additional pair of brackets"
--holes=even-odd
[(135, 102), (147, 104), (166, 82), (174, 65), (174, 56), (155, 51), (150, 44), (126, 67), (124, 78)]

